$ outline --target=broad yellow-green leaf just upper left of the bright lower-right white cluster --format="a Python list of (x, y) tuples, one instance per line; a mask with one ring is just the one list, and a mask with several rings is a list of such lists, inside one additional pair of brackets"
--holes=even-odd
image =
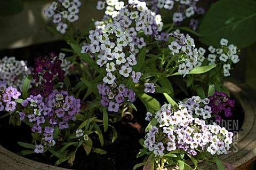
[(155, 111), (159, 110), (161, 105), (160, 103), (153, 97), (147, 95), (147, 94), (139, 94), (138, 97), (143, 102), (145, 107), (147, 108), (147, 111)]

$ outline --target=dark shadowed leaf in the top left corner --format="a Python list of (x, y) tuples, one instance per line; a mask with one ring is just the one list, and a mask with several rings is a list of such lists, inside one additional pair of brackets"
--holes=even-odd
[(21, 0), (0, 0), (0, 16), (18, 14), (23, 10)]

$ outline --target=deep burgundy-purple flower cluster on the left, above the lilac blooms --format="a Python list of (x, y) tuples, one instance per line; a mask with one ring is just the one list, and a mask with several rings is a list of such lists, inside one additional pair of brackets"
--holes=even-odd
[(52, 93), (54, 82), (58, 78), (58, 82), (63, 82), (65, 71), (62, 69), (62, 60), (51, 52), (49, 56), (38, 56), (35, 59), (35, 70), (33, 71), (33, 79), (38, 83), (30, 94), (48, 96)]

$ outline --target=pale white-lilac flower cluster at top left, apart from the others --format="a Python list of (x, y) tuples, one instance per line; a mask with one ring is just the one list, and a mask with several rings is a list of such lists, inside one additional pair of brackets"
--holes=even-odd
[(65, 34), (68, 29), (68, 22), (74, 22), (78, 20), (78, 7), (81, 6), (79, 0), (59, 0), (52, 2), (52, 4), (44, 10), (44, 14), (51, 18), (53, 17), (53, 23), (57, 24), (57, 30), (61, 34)]

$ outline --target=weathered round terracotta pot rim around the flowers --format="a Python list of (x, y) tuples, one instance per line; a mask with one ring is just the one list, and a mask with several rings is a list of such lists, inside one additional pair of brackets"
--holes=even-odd
[[(226, 163), (233, 165), (236, 170), (244, 169), (256, 159), (256, 92), (244, 84), (227, 82), (226, 86), (230, 92), (239, 100), (245, 112), (244, 123), (236, 135), (234, 145), (230, 148), (228, 155), (221, 155), (219, 158)], [(202, 169), (209, 169), (207, 164), (198, 165)], [(36, 161), (16, 155), (0, 145), (0, 169), (53, 169), (63, 170), (66, 168), (54, 167), (38, 163)], [(172, 169), (172, 168), (168, 168)], [(175, 169), (175, 168), (174, 168)], [(214, 166), (213, 166), (214, 169)], [(217, 167), (215, 167), (217, 169)]]

